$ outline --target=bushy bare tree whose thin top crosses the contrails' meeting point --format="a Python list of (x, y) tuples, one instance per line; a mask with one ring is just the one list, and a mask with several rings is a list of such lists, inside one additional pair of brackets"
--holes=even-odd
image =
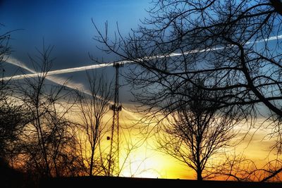
[(73, 123), (66, 118), (75, 95), (64, 85), (47, 82), (53, 61), (51, 49), (44, 46), (38, 60), (30, 57), (37, 77), (26, 77), (18, 85), (19, 98), (30, 114), (30, 121), (18, 142), (18, 158), (35, 177), (72, 174), (69, 168), (75, 158)]

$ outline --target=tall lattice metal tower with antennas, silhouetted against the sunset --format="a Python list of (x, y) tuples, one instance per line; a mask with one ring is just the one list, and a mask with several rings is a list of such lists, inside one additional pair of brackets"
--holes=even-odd
[(115, 91), (114, 91), (114, 104), (110, 106), (110, 109), (113, 111), (113, 124), (111, 127), (111, 146), (109, 153), (109, 166), (108, 173), (109, 175), (118, 175), (119, 174), (119, 112), (121, 111), (121, 104), (118, 101), (118, 76), (119, 68), (123, 67), (123, 63), (114, 63), (114, 68), (116, 68), (116, 82), (115, 82)]

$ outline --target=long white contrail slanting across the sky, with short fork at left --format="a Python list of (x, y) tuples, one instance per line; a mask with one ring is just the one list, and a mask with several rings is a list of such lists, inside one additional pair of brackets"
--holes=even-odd
[[(255, 42), (246, 42), (245, 44), (254, 44), (254, 43), (260, 43), (260, 42), (268, 42), (268, 41), (273, 41), (273, 40), (278, 40), (278, 39), (282, 39), (282, 35), (278, 35), (275, 37), (269, 37), (267, 39), (261, 39), (261, 40), (257, 40)], [(233, 45), (229, 46), (232, 47)], [(207, 51), (216, 51), (216, 50), (220, 50), (220, 49), (224, 49), (226, 47), (215, 47), (215, 48), (210, 48), (210, 49), (195, 49), (192, 51), (186, 51), (184, 53), (171, 53), (168, 55), (159, 55), (159, 56), (150, 56), (147, 57), (147, 59), (154, 59), (154, 58), (164, 58), (167, 56), (173, 57), (173, 56), (183, 56), (183, 55), (187, 55), (187, 54), (195, 54), (195, 53), (202, 53), (202, 52), (207, 52)], [(142, 59), (136, 59), (138, 60), (142, 60)], [(27, 68), (27, 66), (16, 60), (15, 58), (7, 58), (6, 63), (10, 63), (13, 65), (17, 65), (20, 68), (24, 68), (25, 70), (28, 70), (30, 72), (30, 74), (23, 74), (23, 75), (14, 75), (11, 77), (3, 77), (3, 80), (20, 80), (23, 79), (25, 77), (36, 77), (39, 75), (39, 73), (36, 73), (34, 70), (31, 70), (30, 68)], [(111, 63), (102, 63), (99, 65), (86, 65), (86, 66), (81, 66), (81, 67), (76, 67), (76, 68), (65, 68), (65, 69), (61, 69), (61, 70), (51, 70), (48, 72), (48, 76), (49, 75), (59, 75), (59, 74), (63, 74), (63, 73), (75, 73), (75, 72), (80, 72), (80, 71), (85, 71), (85, 70), (91, 70), (91, 69), (96, 69), (96, 68), (104, 68), (104, 67), (109, 67), (114, 65), (114, 63), (134, 63), (134, 61), (116, 61), (116, 62), (111, 62)]]

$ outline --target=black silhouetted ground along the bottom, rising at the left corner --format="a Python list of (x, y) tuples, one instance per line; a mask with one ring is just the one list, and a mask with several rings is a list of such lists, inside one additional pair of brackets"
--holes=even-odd
[[(90, 188), (90, 187), (207, 187), (207, 188), (282, 188), (282, 183), (271, 182), (231, 182), (231, 181), (202, 181), (196, 180), (171, 180), (133, 177), (54, 177), (32, 181), (33, 178), (20, 173), (0, 160), (0, 188)], [(35, 178), (36, 179), (36, 178)]]

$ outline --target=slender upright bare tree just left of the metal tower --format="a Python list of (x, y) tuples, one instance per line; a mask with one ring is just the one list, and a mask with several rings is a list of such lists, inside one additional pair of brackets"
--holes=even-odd
[[(101, 173), (101, 161), (99, 157), (98, 144), (101, 142), (107, 127), (103, 122), (104, 116), (109, 112), (112, 94), (112, 83), (104, 75), (98, 77), (97, 71), (87, 72), (88, 91), (87, 94), (80, 93), (78, 107), (80, 109), (80, 128), (82, 133), (80, 140), (80, 153), (89, 166), (88, 175)], [(86, 91), (85, 91), (86, 92)], [(82, 145), (85, 145), (84, 147)], [(102, 155), (102, 153), (100, 153)]]

